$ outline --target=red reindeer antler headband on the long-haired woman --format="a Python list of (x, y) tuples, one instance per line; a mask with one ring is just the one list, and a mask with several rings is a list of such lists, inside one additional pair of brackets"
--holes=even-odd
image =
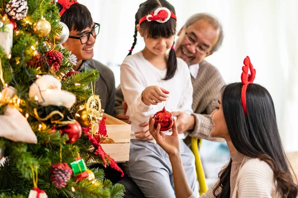
[[(255, 79), (255, 76), (256, 76), (256, 70), (253, 68), (248, 56), (244, 58), (243, 64), (244, 64), (244, 66), (242, 67), (243, 72), (241, 74), (241, 82), (243, 84), (242, 90), (241, 90), (241, 102), (242, 102), (244, 113), (247, 116), (246, 89), (249, 84), (253, 83), (253, 80)], [(250, 70), (250, 74), (248, 74), (248, 69)]]

